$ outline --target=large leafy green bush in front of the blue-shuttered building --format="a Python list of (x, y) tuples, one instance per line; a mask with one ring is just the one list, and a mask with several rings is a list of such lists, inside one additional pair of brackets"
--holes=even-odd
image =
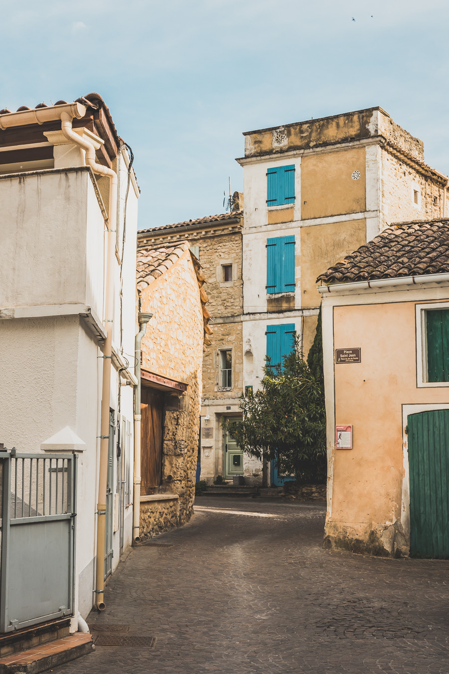
[(299, 483), (324, 483), (326, 414), (319, 359), (312, 362), (314, 375), (296, 335), (294, 341), (282, 367), (267, 358), (261, 388), (241, 396), (243, 420), (233, 423), (232, 435), (246, 454), (277, 460), (281, 474), (293, 473)]

